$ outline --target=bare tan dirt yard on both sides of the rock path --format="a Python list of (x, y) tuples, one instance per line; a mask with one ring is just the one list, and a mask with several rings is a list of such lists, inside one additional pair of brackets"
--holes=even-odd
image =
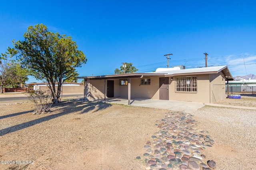
[[(0, 164), (1, 170), (142, 170), (142, 160), (136, 156), (144, 153), (146, 141), (159, 131), (156, 120), (166, 113), (82, 100), (62, 102), (48, 114), (32, 115), (34, 108), (32, 103), (0, 106), (0, 160), (9, 163)], [(233, 138), (239, 128), (228, 128), (239, 122), (228, 120), (229, 125), (219, 114), (228, 112), (232, 117), (238, 109), (223, 109), (204, 107), (192, 113), (201, 122), (198, 128), (215, 140), (206, 156), (215, 160), (218, 170), (256, 169), (255, 124), (251, 128), (242, 124), (243, 131), (252, 133), (249, 138), (247, 131)], [(243, 112), (255, 120), (255, 111)]]

